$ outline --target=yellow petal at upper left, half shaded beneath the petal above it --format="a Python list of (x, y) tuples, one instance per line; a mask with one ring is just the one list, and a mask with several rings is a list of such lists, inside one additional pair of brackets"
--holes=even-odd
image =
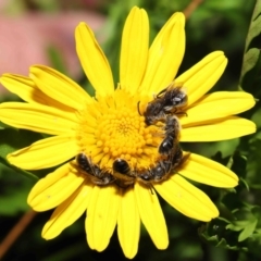
[(17, 95), (24, 101), (29, 103), (40, 103), (42, 105), (54, 107), (63, 111), (72, 111), (72, 109), (63, 103), (53, 100), (40, 89), (29, 77), (15, 74), (3, 74), (0, 83), (11, 92)]

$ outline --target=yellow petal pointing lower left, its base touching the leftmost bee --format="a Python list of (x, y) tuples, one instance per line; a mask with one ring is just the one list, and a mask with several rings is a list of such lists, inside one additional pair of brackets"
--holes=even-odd
[(46, 211), (66, 200), (82, 184), (84, 177), (72, 173), (65, 164), (41, 178), (29, 192), (27, 202), (35, 211)]

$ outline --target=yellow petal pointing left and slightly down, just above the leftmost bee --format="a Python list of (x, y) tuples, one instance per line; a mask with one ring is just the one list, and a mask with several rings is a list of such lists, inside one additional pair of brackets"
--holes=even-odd
[(72, 136), (54, 136), (8, 154), (8, 160), (11, 164), (24, 170), (40, 170), (72, 159), (78, 150), (75, 138)]

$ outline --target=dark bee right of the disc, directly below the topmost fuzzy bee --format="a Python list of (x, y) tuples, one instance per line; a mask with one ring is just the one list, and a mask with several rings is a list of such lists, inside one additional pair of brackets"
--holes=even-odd
[(163, 156), (167, 156), (172, 152), (173, 148), (177, 144), (178, 135), (179, 135), (179, 123), (176, 116), (167, 115), (165, 119), (165, 138), (162, 140), (159, 146), (159, 153)]

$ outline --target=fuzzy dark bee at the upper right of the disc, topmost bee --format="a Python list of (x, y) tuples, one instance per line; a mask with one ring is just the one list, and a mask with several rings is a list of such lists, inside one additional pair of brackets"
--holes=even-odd
[(175, 87), (174, 83), (160, 91), (156, 98), (147, 104), (144, 112), (145, 123), (154, 124), (163, 122), (166, 114), (176, 112), (187, 103), (187, 95), (182, 86)]

